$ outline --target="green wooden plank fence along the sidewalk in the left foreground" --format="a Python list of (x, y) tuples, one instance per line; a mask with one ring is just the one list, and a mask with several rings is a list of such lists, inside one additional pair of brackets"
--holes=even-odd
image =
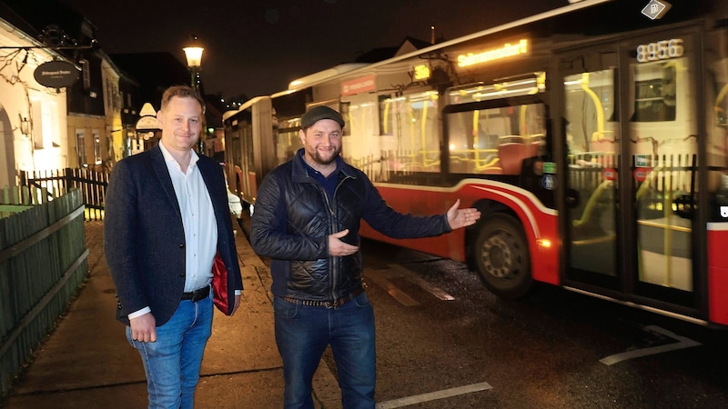
[(0, 218), (0, 392), (50, 334), (88, 275), (78, 189)]

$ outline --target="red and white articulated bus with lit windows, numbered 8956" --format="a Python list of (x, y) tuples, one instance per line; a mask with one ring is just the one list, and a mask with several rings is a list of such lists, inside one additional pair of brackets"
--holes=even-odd
[(728, 7), (571, 3), (248, 101), (225, 115), (231, 189), (254, 206), (300, 116), (329, 105), (391, 207), (482, 212), (440, 237), (362, 236), (466, 262), (503, 297), (539, 282), (728, 325)]

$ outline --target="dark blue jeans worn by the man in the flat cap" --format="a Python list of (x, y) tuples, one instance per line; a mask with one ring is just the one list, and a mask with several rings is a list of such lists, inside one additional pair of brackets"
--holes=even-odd
[(276, 344), (283, 359), (284, 408), (311, 409), (313, 374), (331, 346), (345, 409), (374, 408), (374, 310), (364, 292), (339, 308), (273, 299)]

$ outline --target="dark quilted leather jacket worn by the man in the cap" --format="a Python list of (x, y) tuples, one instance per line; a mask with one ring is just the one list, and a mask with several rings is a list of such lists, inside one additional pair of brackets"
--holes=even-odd
[[(334, 302), (362, 285), (362, 255), (329, 255), (329, 234), (359, 245), (364, 219), (382, 234), (416, 238), (450, 232), (446, 214), (413, 216), (394, 211), (367, 175), (338, 158), (333, 197), (309, 172), (303, 149), (263, 180), (250, 224), (250, 244), (271, 258), (271, 291), (299, 300)], [(414, 199), (416, 200), (416, 199)]]

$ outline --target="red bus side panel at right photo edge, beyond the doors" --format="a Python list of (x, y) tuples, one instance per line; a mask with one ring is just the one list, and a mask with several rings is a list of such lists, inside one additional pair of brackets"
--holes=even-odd
[(708, 308), (709, 320), (728, 324), (728, 224), (708, 224)]

